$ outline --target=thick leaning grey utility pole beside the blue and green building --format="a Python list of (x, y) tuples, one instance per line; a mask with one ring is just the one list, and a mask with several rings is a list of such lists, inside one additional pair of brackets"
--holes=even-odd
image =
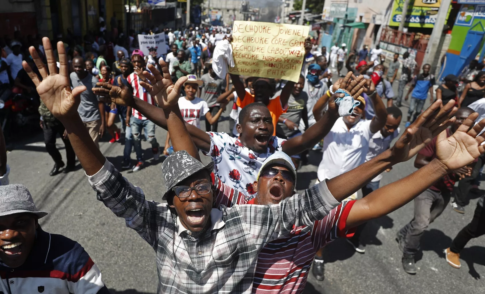
[(436, 62), (439, 58), (439, 53), (441, 47), (439, 43), (441, 41), (441, 36), (443, 35), (443, 28), (445, 26), (446, 15), (448, 14), (448, 9), (450, 8), (451, 0), (441, 0), (441, 6), (439, 7), (438, 14), (436, 15), (435, 26), (429, 37), (428, 46), (426, 46), (426, 51), (424, 52), (423, 64), (431, 64), (431, 72), (434, 73), (436, 68)]

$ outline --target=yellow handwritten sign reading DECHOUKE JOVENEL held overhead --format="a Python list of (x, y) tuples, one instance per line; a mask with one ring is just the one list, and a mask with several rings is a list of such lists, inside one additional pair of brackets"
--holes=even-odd
[(229, 73), (298, 81), (308, 26), (235, 21)]

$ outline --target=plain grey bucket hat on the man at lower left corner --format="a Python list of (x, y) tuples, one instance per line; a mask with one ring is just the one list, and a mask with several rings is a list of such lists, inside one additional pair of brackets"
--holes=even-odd
[(26, 186), (0, 186), (0, 217), (24, 212), (32, 213), (39, 218), (47, 216), (47, 212), (37, 210)]

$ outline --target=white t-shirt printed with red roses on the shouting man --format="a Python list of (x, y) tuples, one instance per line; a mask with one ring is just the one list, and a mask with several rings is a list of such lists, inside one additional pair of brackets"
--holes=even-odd
[(246, 200), (253, 199), (256, 195), (253, 183), (264, 160), (275, 151), (281, 151), (281, 144), (286, 140), (273, 136), (267, 152), (256, 153), (226, 133), (207, 133), (210, 135), (210, 150), (204, 154), (212, 157), (215, 175), (227, 186), (241, 191)]

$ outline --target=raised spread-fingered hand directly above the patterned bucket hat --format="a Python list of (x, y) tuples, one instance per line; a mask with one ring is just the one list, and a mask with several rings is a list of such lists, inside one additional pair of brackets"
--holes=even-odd
[(155, 66), (148, 64), (148, 69), (153, 75), (150, 75), (147, 71), (144, 71), (143, 75), (151, 84), (140, 81), (140, 85), (155, 98), (160, 108), (166, 109), (178, 104), (180, 90), (182, 89), (183, 83), (187, 81), (187, 77), (180, 77), (174, 85), (168, 71), (168, 66), (163, 60), (160, 60), (160, 67), (162, 68), (163, 76)]

